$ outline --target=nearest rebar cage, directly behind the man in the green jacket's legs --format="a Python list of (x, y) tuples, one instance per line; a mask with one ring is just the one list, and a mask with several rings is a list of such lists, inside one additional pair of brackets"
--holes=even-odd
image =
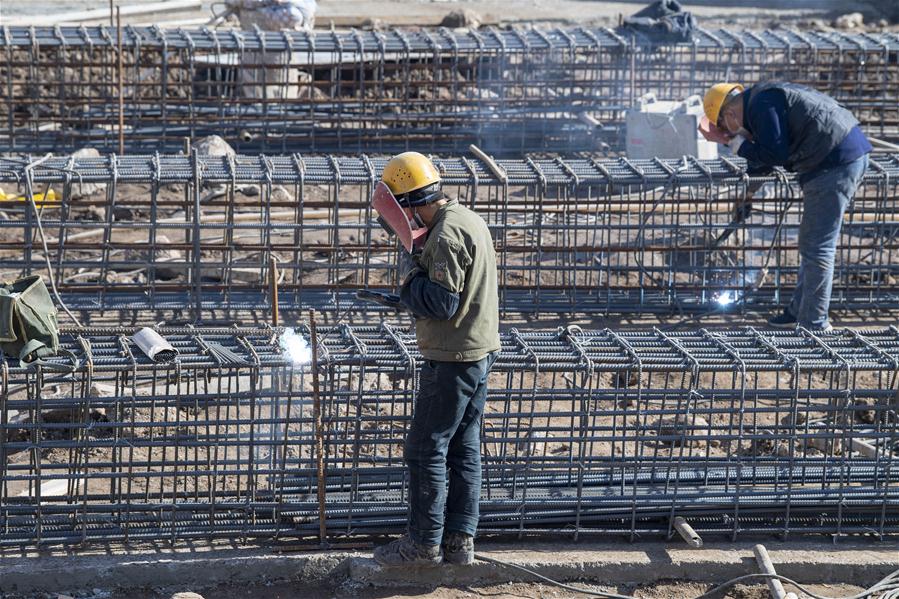
[[(92, 328), (63, 334), (73, 374), (3, 363), (0, 544), (404, 528), (414, 336), (319, 330), (313, 381), (279, 329), (160, 332), (178, 361)], [(899, 532), (897, 377), (895, 327), (512, 330), (483, 419), (481, 531), (670, 537), (680, 516), (730, 538)]]

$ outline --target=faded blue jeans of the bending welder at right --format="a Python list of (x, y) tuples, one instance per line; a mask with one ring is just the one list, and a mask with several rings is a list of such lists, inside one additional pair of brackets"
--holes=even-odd
[(799, 278), (789, 311), (807, 329), (828, 326), (833, 267), (843, 213), (868, 169), (868, 155), (816, 173), (802, 184)]

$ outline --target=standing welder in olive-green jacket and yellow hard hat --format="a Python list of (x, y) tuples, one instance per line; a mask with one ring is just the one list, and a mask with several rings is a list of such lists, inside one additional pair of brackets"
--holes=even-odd
[(493, 239), (480, 216), (443, 194), (440, 173), (425, 156), (395, 156), (382, 182), (419, 227), (420, 247), (401, 260), (399, 295), (416, 317), (424, 361), (404, 449), (409, 531), (374, 557), (384, 566), (470, 564), (481, 495), (480, 423), (500, 349)]

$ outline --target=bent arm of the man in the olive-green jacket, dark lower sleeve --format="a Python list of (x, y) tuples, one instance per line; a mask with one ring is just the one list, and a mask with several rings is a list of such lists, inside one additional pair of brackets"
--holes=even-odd
[(427, 272), (419, 270), (406, 280), (400, 300), (420, 318), (450, 320), (459, 309), (471, 259), (461, 245), (441, 238), (425, 250), (420, 262)]

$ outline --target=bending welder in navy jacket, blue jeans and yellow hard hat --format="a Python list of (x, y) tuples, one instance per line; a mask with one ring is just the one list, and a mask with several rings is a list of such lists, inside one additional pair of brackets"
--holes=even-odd
[(871, 144), (858, 120), (833, 98), (795, 83), (744, 89), (719, 83), (706, 93), (706, 139), (727, 144), (751, 167), (782, 166), (799, 175), (799, 278), (790, 304), (768, 320), (776, 327), (831, 329), (827, 317), (843, 213), (868, 167)]

